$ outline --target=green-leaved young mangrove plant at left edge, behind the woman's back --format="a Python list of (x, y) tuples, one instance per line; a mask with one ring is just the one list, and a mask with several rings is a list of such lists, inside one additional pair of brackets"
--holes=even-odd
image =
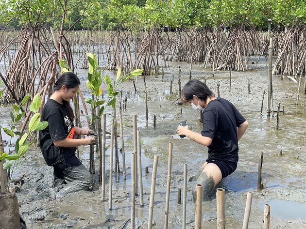
[[(34, 140), (32, 140), (31, 142), (27, 142), (27, 139), (29, 136), (32, 137), (34, 131), (39, 131), (39, 130), (43, 130), (48, 126), (48, 122), (40, 121), (40, 113), (37, 112), (37, 110), (40, 107), (41, 104), (41, 98), (39, 93), (37, 93), (34, 98), (33, 101), (30, 105), (30, 110), (34, 112), (34, 115), (32, 116), (30, 122), (29, 122), (29, 131), (28, 133), (23, 133), (21, 134), (20, 132), (17, 131), (17, 122), (19, 122), (22, 118), (22, 116), (25, 115), (25, 112), (20, 112), (20, 107), (24, 106), (28, 100), (30, 98), (30, 94), (27, 93), (24, 98), (22, 99), (21, 103), (16, 105), (13, 105), (13, 110), (10, 113), (11, 116), (11, 120), (12, 123), (10, 124), (10, 128), (5, 128), (1, 126), (1, 129), (4, 131), (4, 133), (6, 135), (8, 135), (10, 137), (10, 144), (9, 144), (9, 150), (8, 153), (7, 152), (0, 152), (0, 161), (2, 160), (6, 160), (6, 162), (3, 164), (3, 170), (6, 170), (8, 168), (11, 168), (12, 165), (12, 169), (11, 171), (8, 173), (8, 183), (10, 183), (11, 179), (12, 179), (12, 175), (14, 172), (14, 169), (16, 167), (16, 162), (19, 158), (21, 158), (29, 149), (29, 146), (32, 145), (35, 141), (36, 138)], [(12, 139), (13, 137), (17, 137), (18, 139), (15, 142), (15, 153), (11, 154), (11, 146), (12, 146)], [(30, 138), (31, 138), (30, 137)], [(14, 164), (13, 164), (14, 162)], [(19, 163), (21, 164), (22, 161)], [(19, 165), (18, 164), (18, 165)]]

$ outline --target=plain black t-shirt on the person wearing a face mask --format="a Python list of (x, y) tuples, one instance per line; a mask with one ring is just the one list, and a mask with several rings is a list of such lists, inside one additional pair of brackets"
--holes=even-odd
[(223, 98), (211, 100), (202, 114), (202, 136), (212, 138), (208, 160), (238, 162), (237, 127), (245, 118), (237, 108)]

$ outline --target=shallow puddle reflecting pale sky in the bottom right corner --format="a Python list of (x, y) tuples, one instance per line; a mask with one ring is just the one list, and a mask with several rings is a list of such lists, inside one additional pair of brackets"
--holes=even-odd
[[(306, 204), (285, 199), (272, 199), (270, 204), (270, 214), (281, 219), (306, 218)], [(265, 204), (260, 207), (264, 210)]]

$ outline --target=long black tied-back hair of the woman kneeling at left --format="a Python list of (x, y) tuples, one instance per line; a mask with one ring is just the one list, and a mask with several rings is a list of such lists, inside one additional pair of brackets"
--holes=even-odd
[[(81, 84), (81, 82), (80, 82), (78, 76), (76, 76), (72, 72), (66, 72), (58, 78), (58, 80), (55, 82), (55, 84), (53, 86), (53, 89), (55, 91), (60, 90), (63, 85), (65, 85), (66, 88), (68, 88), (68, 89), (69, 88), (75, 88), (80, 84)], [(69, 117), (70, 121), (73, 122), (74, 114), (73, 114), (72, 108), (70, 107), (70, 103), (63, 100), (63, 104), (66, 107), (67, 114), (68, 114), (68, 117)]]

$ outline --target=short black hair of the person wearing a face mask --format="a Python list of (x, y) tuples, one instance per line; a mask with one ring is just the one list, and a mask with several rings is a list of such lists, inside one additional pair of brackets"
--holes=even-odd
[(206, 103), (207, 97), (214, 97), (215, 94), (212, 92), (206, 84), (198, 79), (191, 79), (185, 84), (182, 90), (182, 101), (187, 102), (192, 100), (193, 95), (196, 95), (199, 99)]

